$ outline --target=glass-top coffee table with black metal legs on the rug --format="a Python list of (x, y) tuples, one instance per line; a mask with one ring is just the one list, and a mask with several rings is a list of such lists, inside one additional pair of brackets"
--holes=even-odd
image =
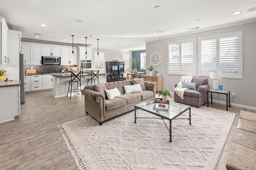
[[(191, 107), (189, 105), (184, 105), (181, 103), (176, 103), (170, 101), (170, 104), (168, 105), (169, 110), (168, 111), (156, 111), (153, 110), (154, 107), (154, 99), (149, 101), (144, 101), (142, 103), (139, 103), (138, 105), (134, 105), (135, 111), (134, 111), (134, 123), (136, 123), (136, 119), (138, 118), (147, 118), (147, 119), (167, 119), (170, 122), (170, 128), (166, 125), (165, 121), (164, 124), (166, 125), (166, 128), (168, 129), (170, 133), (170, 142), (172, 142), (172, 120), (177, 119), (178, 116), (180, 116), (182, 113), (189, 110), (189, 118), (180, 118), (180, 119), (188, 119), (189, 125), (191, 125)], [(151, 113), (153, 115), (156, 115), (160, 118), (149, 118), (149, 117), (136, 117), (136, 109), (141, 109), (143, 111), (146, 111), (148, 113)]]

